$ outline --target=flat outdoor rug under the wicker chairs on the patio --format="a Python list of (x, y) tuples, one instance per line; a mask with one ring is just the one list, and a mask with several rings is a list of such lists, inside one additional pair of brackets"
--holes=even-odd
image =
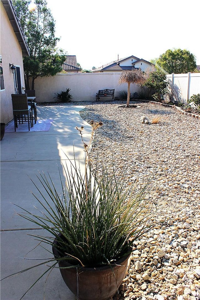
[[(30, 132), (34, 131), (49, 131), (53, 120), (38, 120), (36, 124), (33, 121), (33, 127), (30, 127)], [(5, 126), (5, 132), (15, 132), (14, 120)], [(28, 132), (28, 124), (18, 124), (16, 132)]]

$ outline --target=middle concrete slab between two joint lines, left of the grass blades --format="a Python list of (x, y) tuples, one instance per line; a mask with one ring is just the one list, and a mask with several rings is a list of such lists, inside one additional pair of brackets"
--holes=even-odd
[[(64, 166), (67, 164), (70, 167), (69, 161), (62, 161), (62, 163)], [(43, 191), (42, 184), (37, 178), (40, 173), (44, 173), (46, 176), (49, 174), (54, 186), (61, 193), (62, 185), (58, 168), (64, 186), (66, 177), (64, 176), (63, 165), (59, 160), (1, 162), (1, 230), (38, 228), (35, 224), (18, 215), (22, 209), (16, 205), (29, 212), (37, 213), (35, 207), (39, 209), (40, 206), (32, 193), (37, 197), (40, 195), (32, 181)], [(8, 186), (8, 183), (12, 186)]]

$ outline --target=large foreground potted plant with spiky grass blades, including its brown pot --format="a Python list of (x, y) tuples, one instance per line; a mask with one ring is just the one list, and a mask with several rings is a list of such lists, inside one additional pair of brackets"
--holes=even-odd
[(77, 127), (85, 151), (84, 171), (75, 159), (70, 167), (63, 166), (67, 180), (65, 187), (61, 182), (62, 195), (49, 176), (37, 176), (44, 191), (33, 182), (40, 194), (35, 198), (42, 210), (33, 214), (21, 207), (24, 212), (20, 215), (50, 233), (50, 237), (34, 236), (50, 244), (54, 255), (37, 266), (47, 264), (51, 270), (58, 264), (64, 281), (79, 300), (106, 300), (122, 283), (133, 243), (153, 226), (154, 212), (145, 200), (147, 186), (134, 194), (126, 169), (116, 176), (114, 163), (107, 166), (98, 158), (91, 161), (94, 131), (102, 123), (91, 121), (91, 125), (88, 144), (83, 140), (83, 126)]

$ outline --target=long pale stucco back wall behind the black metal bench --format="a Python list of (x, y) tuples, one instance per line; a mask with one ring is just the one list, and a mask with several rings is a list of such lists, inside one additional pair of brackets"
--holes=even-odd
[[(57, 74), (53, 77), (40, 77), (35, 79), (37, 102), (53, 101), (54, 93), (66, 91), (71, 88), (72, 101), (95, 101), (98, 90), (105, 88), (115, 89), (115, 97), (122, 90), (127, 91), (128, 84), (118, 84), (120, 73), (74, 73)], [(131, 84), (131, 93), (138, 91), (137, 85)], [(102, 100), (111, 98), (102, 98)]]

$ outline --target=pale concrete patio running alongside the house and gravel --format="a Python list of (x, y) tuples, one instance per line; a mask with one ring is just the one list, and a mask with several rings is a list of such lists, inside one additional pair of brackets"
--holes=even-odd
[[(40, 246), (34, 249), (38, 242), (28, 235), (43, 236), (45, 232), (20, 217), (17, 213), (22, 209), (14, 204), (35, 212), (34, 206), (38, 204), (31, 192), (36, 195), (38, 192), (30, 178), (39, 184), (36, 175), (39, 172), (49, 173), (55, 186), (61, 189), (58, 174), (58, 168), (61, 171), (63, 168), (61, 163), (73, 160), (75, 152), (75, 158), (79, 158), (84, 165), (83, 143), (75, 127), (84, 126), (87, 143), (91, 136), (91, 126), (80, 117), (81, 109), (83, 106), (77, 105), (40, 106), (37, 108), (38, 119), (52, 119), (49, 131), (5, 133), (1, 141), (1, 278), (41, 262), (24, 257), (53, 257)], [(45, 270), (47, 266), (42, 266), (3, 280), (1, 300), (20, 299)], [(47, 275), (42, 277), (23, 299), (42, 300), (44, 297), (46, 300), (75, 299), (58, 268), (54, 268), (48, 278)]]

